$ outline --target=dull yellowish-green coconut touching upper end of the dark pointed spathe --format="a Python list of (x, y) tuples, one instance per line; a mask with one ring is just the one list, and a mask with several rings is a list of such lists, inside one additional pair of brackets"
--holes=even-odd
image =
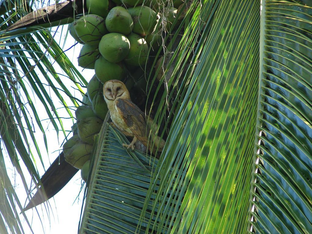
[(85, 162), (91, 159), (92, 147), (90, 144), (75, 144), (67, 154), (64, 154), (66, 162), (81, 169)]

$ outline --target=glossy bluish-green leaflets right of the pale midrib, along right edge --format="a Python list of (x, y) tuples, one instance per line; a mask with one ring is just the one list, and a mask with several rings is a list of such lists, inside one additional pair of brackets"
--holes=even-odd
[(311, 7), (309, 1), (262, 6), (256, 233), (312, 233)]

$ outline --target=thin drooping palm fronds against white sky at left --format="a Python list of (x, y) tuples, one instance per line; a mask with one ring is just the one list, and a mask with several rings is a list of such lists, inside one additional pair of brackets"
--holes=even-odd
[[(16, 2), (15, 5), (8, 3), (12, 2), (7, 1), (6, 14), (0, 17), (1, 30), (31, 10), (27, 8), (29, 7), (27, 4), (26, 8), (20, 7), (21, 2)], [(78, 98), (74, 97), (72, 89), (67, 88), (68, 84), (80, 92), (87, 84), (53, 36), (54, 33), (49, 30), (11, 37), (7, 37), (7, 34), (1, 35), (0, 196), (3, 201), (0, 206), (0, 216), (3, 217), (0, 221), (1, 233), (7, 228), (12, 233), (25, 233), (26, 226), (31, 230), (31, 224), (25, 213), (22, 214), (22, 220), (26, 223), (22, 224), (19, 217), (25, 201), (19, 201), (19, 196), (10, 180), (9, 168), (14, 167), (17, 171), (29, 197), (31, 181), (26, 179), (29, 178), (27, 173), (31, 176), (32, 184), (38, 186), (40, 176), (37, 168), (41, 165), (44, 168), (42, 149), (39, 148), (40, 143), (35, 137), (35, 131), (41, 132), (48, 153), (46, 127), (42, 123), (42, 116), (46, 116), (51, 121), (57, 135), (62, 132), (64, 136), (61, 138), (66, 137), (70, 129), (64, 126), (62, 118), (73, 119), (71, 106), (80, 105), (82, 99), (80, 95)], [(40, 110), (41, 113), (38, 114), (40, 105), (43, 111)], [(58, 110), (60, 105), (66, 110), (67, 115), (60, 115)], [(43, 112), (46, 113), (42, 114)], [(7, 155), (12, 165), (5, 165)], [(22, 170), (24, 167), (28, 172)]]

